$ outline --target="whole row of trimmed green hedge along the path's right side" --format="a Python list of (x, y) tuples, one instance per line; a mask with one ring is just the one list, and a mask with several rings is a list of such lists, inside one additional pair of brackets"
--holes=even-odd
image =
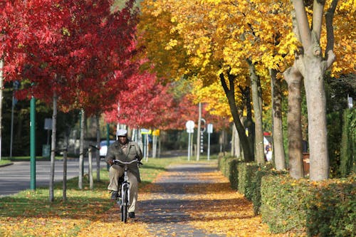
[(299, 236), (356, 236), (356, 175), (326, 181), (295, 180), (271, 164), (258, 167), (234, 157), (219, 157), (231, 186), (253, 202), (273, 233)]

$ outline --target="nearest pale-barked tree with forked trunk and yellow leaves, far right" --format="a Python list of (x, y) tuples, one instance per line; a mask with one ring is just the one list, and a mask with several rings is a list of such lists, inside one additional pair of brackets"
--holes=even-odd
[[(337, 0), (293, 0), (295, 33), (301, 48), (285, 75), (304, 81), (312, 180), (328, 179), (330, 174), (323, 77), (337, 58), (335, 52), (340, 64), (332, 68), (334, 75), (355, 68), (355, 60), (350, 60), (355, 59), (355, 53), (350, 51), (355, 48), (355, 1), (337, 4)], [(348, 27), (345, 22), (350, 22)]]

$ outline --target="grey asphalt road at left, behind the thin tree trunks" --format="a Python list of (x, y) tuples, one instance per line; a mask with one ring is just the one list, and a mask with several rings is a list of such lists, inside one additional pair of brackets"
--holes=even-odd
[[(46, 187), (49, 184), (51, 162), (36, 162), (36, 187)], [(67, 162), (67, 179), (78, 177), (79, 159), (69, 159)], [(100, 169), (106, 163), (100, 161)], [(55, 162), (54, 181), (63, 181), (63, 161)], [(96, 161), (93, 159), (93, 173), (96, 172)], [(88, 173), (88, 158), (84, 159), (84, 173)], [(0, 167), (0, 196), (9, 196), (19, 191), (30, 189), (30, 162), (14, 162), (14, 164)]]

